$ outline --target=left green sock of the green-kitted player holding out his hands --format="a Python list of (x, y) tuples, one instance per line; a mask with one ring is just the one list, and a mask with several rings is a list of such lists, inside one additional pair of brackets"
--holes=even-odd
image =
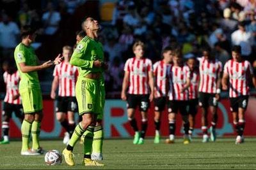
[(27, 151), (29, 149), (29, 134), (31, 131), (32, 124), (27, 120), (23, 120), (21, 125), (21, 134), (22, 134), (22, 148), (21, 151)]

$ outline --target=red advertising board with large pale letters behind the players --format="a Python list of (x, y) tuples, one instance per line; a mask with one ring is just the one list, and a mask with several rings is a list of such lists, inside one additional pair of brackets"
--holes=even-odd
[[(0, 109), (2, 104), (0, 104)], [(218, 136), (232, 136), (236, 135), (232, 125), (232, 116), (229, 111), (228, 99), (222, 99), (218, 106), (218, 124), (217, 134)], [(150, 110), (148, 111), (148, 130), (147, 136), (154, 136), (154, 104), (151, 104)], [(246, 127), (244, 134), (246, 136), (256, 136), (255, 124), (256, 124), (256, 99), (250, 97), (248, 109), (246, 111)], [(1, 117), (0, 117), (1, 118)], [(140, 127), (140, 113), (136, 111), (137, 122)], [(78, 115), (76, 115), (78, 119)], [(196, 115), (195, 124), (195, 136), (201, 135), (201, 112), (198, 110)], [(208, 120), (211, 122), (211, 114), (208, 115)], [(178, 136), (182, 135), (182, 121), (180, 114), (177, 115), (177, 130)], [(1, 127), (0, 127), (1, 128)], [(63, 136), (63, 128), (59, 122), (57, 122), (54, 115), (54, 101), (51, 99), (44, 100), (44, 118), (42, 121), (41, 138), (59, 138)], [(128, 138), (131, 137), (134, 132), (127, 120), (126, 103), (121, 100), (106, 100), (106, 106), (104, 110), (104, 133), (105, 138), (120, 137)], [(161, 134), (168, 136), (168, 117), (166, 111), (164, 111), (161, 117)], [(20, 122), (13, 114), (13, 120), (10, 122), (10, 137), (20, 138)]]

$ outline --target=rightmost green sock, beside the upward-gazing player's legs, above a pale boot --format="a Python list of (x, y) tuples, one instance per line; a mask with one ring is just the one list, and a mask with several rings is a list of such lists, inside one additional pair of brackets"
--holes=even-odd
[(97, 125), (94, 129), (92, 153), (102, 153), (104, 133), (102, 125)]

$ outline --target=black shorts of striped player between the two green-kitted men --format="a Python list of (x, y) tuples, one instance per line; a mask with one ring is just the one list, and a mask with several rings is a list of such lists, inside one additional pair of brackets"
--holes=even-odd
[(56, 112), (64, 112), (68, 111), (77, 112), (77, 101), (76, 97), (61, 97), (57, 98), (57, 107)]

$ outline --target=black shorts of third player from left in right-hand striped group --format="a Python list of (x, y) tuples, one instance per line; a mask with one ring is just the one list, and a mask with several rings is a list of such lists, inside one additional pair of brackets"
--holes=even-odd
[(188, 115), (188, 101), (168, 101), (168, 113), (178, 113)]

